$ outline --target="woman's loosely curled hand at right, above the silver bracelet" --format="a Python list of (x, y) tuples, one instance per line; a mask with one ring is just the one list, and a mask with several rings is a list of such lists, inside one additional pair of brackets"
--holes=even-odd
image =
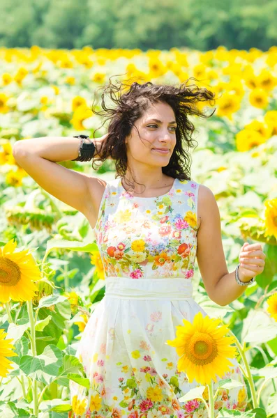
[(262, 245), (244, 242), (239, 253), (239, 277), (250, 280), (252, 277), (264, 271), (266, 255), (262, 251)]

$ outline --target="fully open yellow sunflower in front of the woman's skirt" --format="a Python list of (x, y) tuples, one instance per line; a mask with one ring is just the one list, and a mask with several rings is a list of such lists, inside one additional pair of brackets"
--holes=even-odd
[(233, 336), (225, 336), (229, 329), (227, 325), (218, 327), (220, 319), (211, 319), (198, 312), (193, 323), (183, 319), (185, 326), (177, 325), (177, 337), (167, 344), (176, 347), (179, 360), (177, 368), (186, 372), (188, 381), (193, 379), (202, 385), (207, 385), (211, 379), (216, 382), (216, 374), (222, 378), (229, 366), (233, 364), (229, 358), (237, 354)]

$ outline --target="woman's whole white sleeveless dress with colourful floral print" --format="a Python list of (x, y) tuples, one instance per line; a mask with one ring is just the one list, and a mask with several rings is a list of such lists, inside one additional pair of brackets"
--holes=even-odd
[[(70, 418), (204, 418), (199, 399), (177, 370), (174, 339), (183, 318), (207, 314), (193, 300), (197, 249), (197, 195), (193, 180), (174, 180), (158, 197), (131, 196), (121, 178), (107, 183), (93, 229), (105, 270), (105, 296), (78, 343), (89, 389), (70, 381)], [(223, 379), (244, 385), (220, 389), (215, 411), (246, 409), (246, 385), (237, 359)], [(218, 380), (220, 380), (218, 378)], [(214, 389), (218, 384), (214, 384)], [(204, 398), (208, 399), (207, 391)]]

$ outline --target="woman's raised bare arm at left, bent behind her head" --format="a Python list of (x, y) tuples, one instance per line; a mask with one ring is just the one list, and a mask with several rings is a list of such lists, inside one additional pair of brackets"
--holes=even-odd
[[(98, 150), (101, 138), (93, 141)], [(57, 164), (77, 158), (79, 144), (73, 137), (24, 139), (13, 146), (13, 156), (46, 192), (85, 215), (93, 206), (91, 190), (99, 190), (100, 180)]]

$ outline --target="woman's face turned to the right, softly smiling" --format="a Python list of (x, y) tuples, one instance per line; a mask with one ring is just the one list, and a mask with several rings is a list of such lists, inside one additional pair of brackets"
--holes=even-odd
[[(140, 162), (151, 166), (167, 166), (176, 145), (176, 128), (174, 111), (169, 104), (151, 104), (142, 117), (135, 121), (130, 135), (126, 137), (128, 164)], [(156, 148), (166, 148), (167, 152), (159, 152)]]

